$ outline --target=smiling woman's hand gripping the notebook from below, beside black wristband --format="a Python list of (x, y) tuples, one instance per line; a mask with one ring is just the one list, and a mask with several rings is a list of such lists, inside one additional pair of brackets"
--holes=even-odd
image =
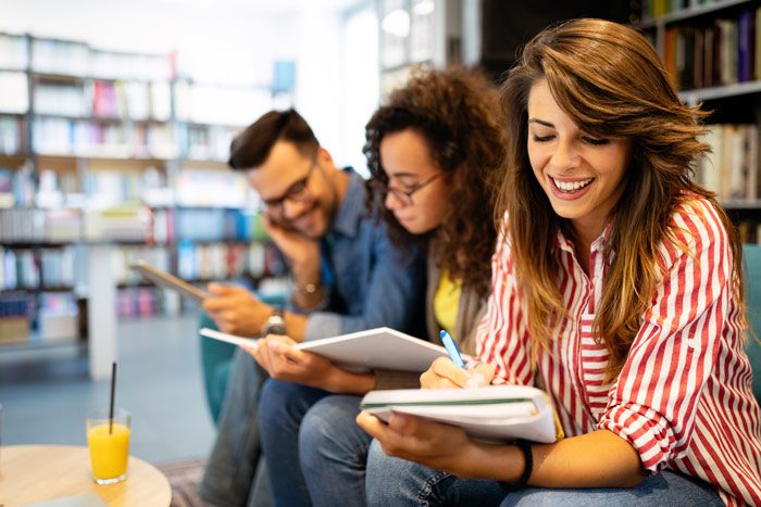
[(357, 423), (373, 435), (389, 456), (470, 477), (469, 462), (476, 453), (476, 444), (462, 428), (402, 414), (391, 415), (386, 424), (366, 411), (357, 416)]

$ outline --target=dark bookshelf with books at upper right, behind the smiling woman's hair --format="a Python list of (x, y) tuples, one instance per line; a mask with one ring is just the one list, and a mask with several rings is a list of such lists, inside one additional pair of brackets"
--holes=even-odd
[(639, 27), (682, 100), (711, 114), (713, 153), (696, 178), (716, 192), (744, 242), (761, 242), (761, 1), (646, 0)]

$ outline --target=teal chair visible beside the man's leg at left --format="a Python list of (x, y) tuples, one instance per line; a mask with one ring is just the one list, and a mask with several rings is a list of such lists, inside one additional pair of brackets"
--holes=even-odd
[[(285, 296), (266, 296), (262, 297), (262, 301), (271, 305), (283, 307), (285, 304)], [(198, 329), (201, 328), (216, 329), (216, 325), (205, 312), (201, 312), (199, 317)], [(225, 397), (225, 389), (227, 388), (227, 373), (229, 373), (230, 362), (233, 360), (236, 345), (204, 337), (200, 337), (200, 340), (201, 367), (203, 370), (203, 388), (207, 394), (207, 403), (209, 404), (209, 411), (211, 413), (214, 426), (219, 426), (222, 401)]]

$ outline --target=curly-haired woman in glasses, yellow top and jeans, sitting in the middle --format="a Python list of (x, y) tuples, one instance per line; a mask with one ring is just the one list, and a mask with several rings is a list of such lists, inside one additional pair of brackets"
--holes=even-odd
[[(365, 128), (369, 207), (383, 207), (397, 246), (427, 252), (426, 315), (421, 316), (427, 338), (440, 343), (439, 330), (446, 329), (469, 354), (475, 353), (476, 327), (486, 312), (497, 239), (490, 185), (504, 149), (498, 113), (498, 94), (482, 75), (429, 71), (396, 90)], [(332, 385), (327, 375), (323, 383), (305, 386), (282, 375), (304, 356), (291, 351), (286, 357), (290, 363), (273, 357), (269, 369), (274, 379), (291, 382), (271, 380), (260, 403), (275, 504), (364, 505), (371, 438), (354, 422), (359, 395), (420, 386), (419, 375), (367, 373), (362, 385)]]

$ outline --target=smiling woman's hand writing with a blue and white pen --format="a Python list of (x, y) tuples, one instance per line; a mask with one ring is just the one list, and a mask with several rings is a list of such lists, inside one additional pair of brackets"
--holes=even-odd
[(495, 368), (488, 364), (476, 364), (466, 368), (454, 339), (447, 332), (439, 334), (449, 358), (439, 357), (420, 377), (423, 389), (481, 388), (488, 385), (495, 375)]

